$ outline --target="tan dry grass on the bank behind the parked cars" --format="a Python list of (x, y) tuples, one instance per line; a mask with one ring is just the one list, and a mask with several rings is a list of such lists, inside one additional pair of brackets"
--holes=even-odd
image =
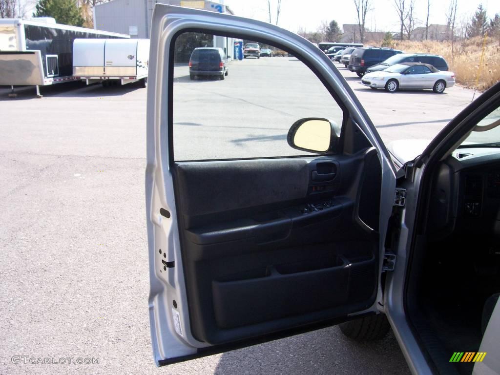
[[(449, 41), (395, 40), (393, 47), (405, 52), (440, 54), (448, 62), (450, 70), (455, 73), (457, 83), (465, 87), (485, 90), (500, 80), (500, 45), (498, 39), (487, 38), (482, 64), (479, 66), (482, 43), (481, 37), (455, 41), (452, 50)], [(376, 45), (376, 43), (369, 45)]]

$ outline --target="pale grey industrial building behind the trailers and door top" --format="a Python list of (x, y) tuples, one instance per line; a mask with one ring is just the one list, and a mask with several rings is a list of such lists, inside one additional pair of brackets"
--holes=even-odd
[[(220, 2), (207, 0), (113, 0), (94, 6), (94, 28), (129, 34), (132, 38), (149, 38), (151, 18), (156, 2), (233, 14), (222, 0)], [(233, 54), (232, 45), (233, 39), (231, 38), (214, 37), (213, 46), (223, 48), (228, 55)]]

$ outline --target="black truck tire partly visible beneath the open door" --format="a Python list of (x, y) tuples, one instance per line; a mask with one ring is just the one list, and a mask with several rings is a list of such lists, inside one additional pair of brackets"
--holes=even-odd
[(384, 314), (364, 316), (338, 324), (340, 331), (355, 341), (374, 341), (383, 338), (389, 331), (389, 322)]

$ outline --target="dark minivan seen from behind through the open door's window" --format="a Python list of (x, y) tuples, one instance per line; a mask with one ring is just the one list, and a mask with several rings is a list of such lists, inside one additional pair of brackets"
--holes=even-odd
[(219, 79), (224, 79), (224, 76), (227, 75), (227, 62), (228, 57), (222, 48), (194, 48), (189, 58), (189, 78), (217, 76)]

